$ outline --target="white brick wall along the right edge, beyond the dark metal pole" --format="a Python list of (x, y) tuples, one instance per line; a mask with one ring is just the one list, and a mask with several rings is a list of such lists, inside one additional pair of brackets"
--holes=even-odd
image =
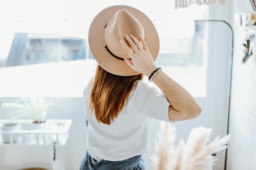
[(256, 55), (242, 64), (247, 33), (242, 26), (234, 26), (234, 33), (227, 170), (256, 170)]

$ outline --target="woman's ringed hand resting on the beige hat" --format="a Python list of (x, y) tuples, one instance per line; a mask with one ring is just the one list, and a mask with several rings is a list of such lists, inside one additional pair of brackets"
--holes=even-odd
[(145, 40), (140, 37), (140, 41), (137, 40), (133, 35), (124, 35), (127, 42), (130, 44), (130, 47), (126, 45), (123, 40), (120, 40), (121, 46), (124, 48), (126, 53), (130, 56), (132, 60), (124, 58), (124, 61), (132, 68), (133, 70), (143, 73), (146, 76), (150, 74), (157, 68), (154, 63), (153, 57), (148, 50), (148, 46)]

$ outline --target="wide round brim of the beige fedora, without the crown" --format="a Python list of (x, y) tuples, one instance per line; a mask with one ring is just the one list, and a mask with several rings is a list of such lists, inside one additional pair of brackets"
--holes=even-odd
[(92, 20), (88, 33), (88, 41), (92, 56), (97, 63), (109, 73), (120, 76), (138, 75), (139, 72), (134, 71), (126, 64), (124, 60), (119, 60), (113, 57), (104, 47), (103, 44), (103, 29), (110, 18), (119, 10), (125, 9), (134, 15), (142, 24), (145, 32), (145, 41), (148, 49), (155, 61), (159, 53), (159, 37), (153, 22), (141, 11), (133, 7), (125, 5), (116, 5), (103, 9)]

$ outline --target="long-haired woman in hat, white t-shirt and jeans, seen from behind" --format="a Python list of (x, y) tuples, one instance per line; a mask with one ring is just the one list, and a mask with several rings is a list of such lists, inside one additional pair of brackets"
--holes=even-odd
[[(84, 90), (88, 150), (80, 170), (145, 169), (151, 118), (181, 121), (197, 117), (193, 97), (158, 68), (155, 26), (141, 11), (113, 6), (92, 21), (89, 45), (98, 66)], [(146, 75), (159, 89), (142, 81)]]

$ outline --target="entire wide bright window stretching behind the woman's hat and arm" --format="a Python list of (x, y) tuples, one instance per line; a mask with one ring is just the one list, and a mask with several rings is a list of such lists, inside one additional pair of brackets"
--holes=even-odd
[[(15, 9), (7, 2), (10, 8), (0, 11), (0, 97), (81, 97), (96, 64), (88, 60), (93, 59), (86, 40), (90, 22), (120, 1), (56, 1), (51, 8), (43, 0), (28, 0), (31, 5), (22, 1), (17, 0), (20, 5)], [(208, 25), (192, 20), (207, 19), (208, 7), (175, 10), (172, 0), (122, 4), (143, 11), (155, 24), (160, 38), (157, 66), (194, 97), (205, 96)], [(8, 20), (1, 18), (5, 15), (10, 15)]]

